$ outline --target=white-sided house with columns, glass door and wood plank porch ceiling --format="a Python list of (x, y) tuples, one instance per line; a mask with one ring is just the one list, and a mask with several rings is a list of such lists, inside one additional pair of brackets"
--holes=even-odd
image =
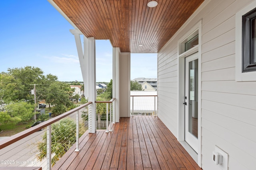
[(255, 0), (49, 1), (76, 28), (93, 106), (94, 37), (113, 45), (116, 122), (130, 117), (130, 53), (157, 53), (158, 117), (184, 149), (204, 170), (255, 169)]

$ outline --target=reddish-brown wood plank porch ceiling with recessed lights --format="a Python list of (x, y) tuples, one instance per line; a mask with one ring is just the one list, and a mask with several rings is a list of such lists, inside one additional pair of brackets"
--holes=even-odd
[[(204, 0), (53, 0), (86, 37), (121, 52), (158, 53)], [(139, 46), (142, 44), (143, 46)]]

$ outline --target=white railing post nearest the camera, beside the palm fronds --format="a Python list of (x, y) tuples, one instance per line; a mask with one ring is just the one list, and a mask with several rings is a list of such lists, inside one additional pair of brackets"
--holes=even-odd
[(46, 158), (47, 158), (47, 170), (52, 169), (52, 126), (47, 126), (46, 130)]

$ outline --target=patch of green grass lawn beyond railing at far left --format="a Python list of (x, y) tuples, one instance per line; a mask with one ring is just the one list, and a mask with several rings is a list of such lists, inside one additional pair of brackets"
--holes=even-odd
[(26, 130), (26, 127), (30, 127), (34, 123), (34, 120), (28, 121), (26, 124), (17, 125), (16, 123), (0, 124), (0, 137), (8, 137), (15, 135), (16, 133)]

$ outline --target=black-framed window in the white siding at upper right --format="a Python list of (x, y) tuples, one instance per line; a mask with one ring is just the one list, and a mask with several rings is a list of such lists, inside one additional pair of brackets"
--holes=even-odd
[(242, 16), (242, 72), (256, 71), (256, 8)]

